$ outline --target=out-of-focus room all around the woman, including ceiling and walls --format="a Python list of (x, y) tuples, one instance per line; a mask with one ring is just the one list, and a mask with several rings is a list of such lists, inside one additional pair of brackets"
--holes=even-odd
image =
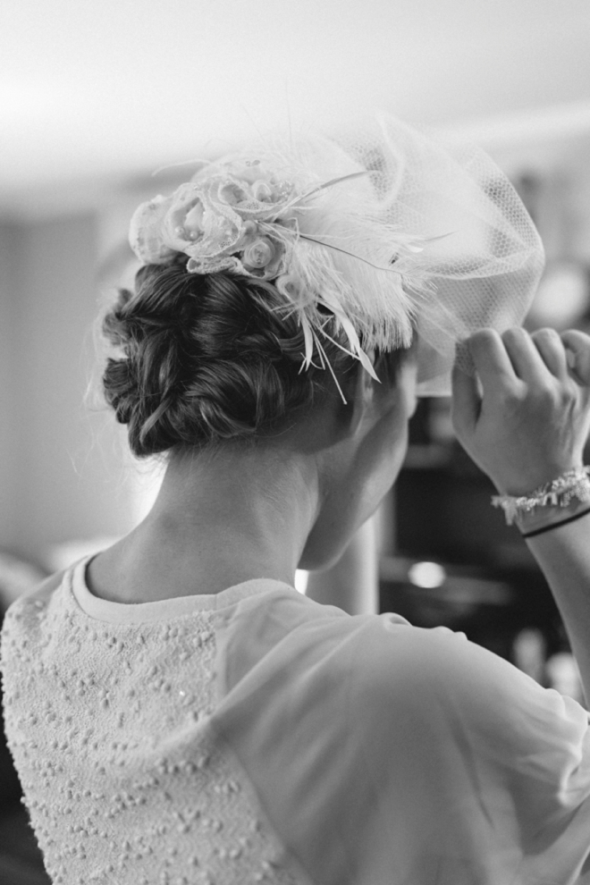
[[(131, 212), (182, 181), (173, 164), (374, 108), (475, 141), (544, 240), (528, 327), (587, 329), (589, 49), (587, 0), (3, 0), (0, 610), (156, 493), (93, 392), (95, 318), (133, 273)], [(382, 609), (463, 630), (584, 703), (551, 594), (491, 493), (448, 400), (423, 400), (380, 513)], [(7, 838), (14, 821), (6, 881), (46, 881), (30, 841)]]

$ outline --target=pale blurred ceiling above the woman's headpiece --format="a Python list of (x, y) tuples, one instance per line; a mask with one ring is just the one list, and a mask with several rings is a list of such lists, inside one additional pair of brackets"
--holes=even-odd
[[(0, 214), (384, 108), (590, 145), (588, 0), (2, 0)], [(581, 139), (581, 140), (580, 140)]]

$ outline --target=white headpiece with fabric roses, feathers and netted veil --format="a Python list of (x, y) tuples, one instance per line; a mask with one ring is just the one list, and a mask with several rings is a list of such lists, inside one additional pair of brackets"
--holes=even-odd
[(139, 206), (130, 241), (144, 263), (184, 253), (191, 274), (272, 282), (304, 333), (302, 370), (329, 368), (334, 322), (372, 375), (367, 351), (407, 347), (416, 330), (423, 396), (449, 392), (459, 341), (522, 321), (544, 265), (525, 207), (483, 151), (386, 114), (199, 162), (172, 195)]

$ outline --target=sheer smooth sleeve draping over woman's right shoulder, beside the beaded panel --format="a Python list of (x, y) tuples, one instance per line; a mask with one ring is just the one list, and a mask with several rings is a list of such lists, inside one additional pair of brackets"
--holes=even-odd
[(215, 727), (311, 881), (590, 883), (577, 702), (463, 634), (280, 595), (224, 655)]

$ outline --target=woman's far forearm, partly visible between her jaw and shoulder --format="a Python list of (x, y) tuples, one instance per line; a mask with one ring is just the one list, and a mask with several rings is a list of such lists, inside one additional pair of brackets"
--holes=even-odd
[(368, 519), (332, 569), (309, 573), (306, 594), (316, 603), (337, 605), (349, 614), (375, 614), (379, 608), (375, 534), (375, 519)]

